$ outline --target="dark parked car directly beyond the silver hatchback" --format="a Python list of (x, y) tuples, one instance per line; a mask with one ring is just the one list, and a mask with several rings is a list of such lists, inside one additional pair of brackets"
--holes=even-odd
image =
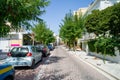
[(50, 54), (50, 50), (48, 46), (45, 46), (44, 44), (36, 45), (38, 51), (42, 52), (42, 56), (46, 57)]

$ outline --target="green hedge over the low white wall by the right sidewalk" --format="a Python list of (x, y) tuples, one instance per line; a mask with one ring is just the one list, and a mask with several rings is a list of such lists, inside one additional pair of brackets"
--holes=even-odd
[(113, 38), (99, 37), (95, 40), (88, 41), (90, 51), (105, 55), (115, 56), (114, 47), (116, 42)]

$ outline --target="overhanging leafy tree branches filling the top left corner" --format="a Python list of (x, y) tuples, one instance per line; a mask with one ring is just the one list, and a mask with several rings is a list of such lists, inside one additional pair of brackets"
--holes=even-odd
[[(10, 29), (28, 29), (31, 20), (41, 21), (39, 16), (48, 4), (47, 0), (0, 0), (0, 36), (6, 35)], [(7, 22), (11, 25), (6, 25)]]

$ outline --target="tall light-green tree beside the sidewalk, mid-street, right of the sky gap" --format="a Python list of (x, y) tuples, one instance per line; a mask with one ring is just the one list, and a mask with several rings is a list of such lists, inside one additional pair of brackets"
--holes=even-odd
[(65, 15), (63, 24), (60, 24), (60, 37), (68, 43), (69, 47), (72, 45), (75, 48), (75, 42), (82, 36), (83, 29), (82, 16), (69, 12)]

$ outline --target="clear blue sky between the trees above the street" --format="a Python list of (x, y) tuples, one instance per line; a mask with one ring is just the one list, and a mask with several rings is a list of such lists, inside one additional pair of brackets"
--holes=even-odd
[(45, 8), (46, 13), (41, 18), (46, 22), (55, 34), (59, 34), (59, 24), (62, 23), (65, 14), (76, 11), (82, 7), (88, 7), (94, 0), (51, 0), (49, 6)]

